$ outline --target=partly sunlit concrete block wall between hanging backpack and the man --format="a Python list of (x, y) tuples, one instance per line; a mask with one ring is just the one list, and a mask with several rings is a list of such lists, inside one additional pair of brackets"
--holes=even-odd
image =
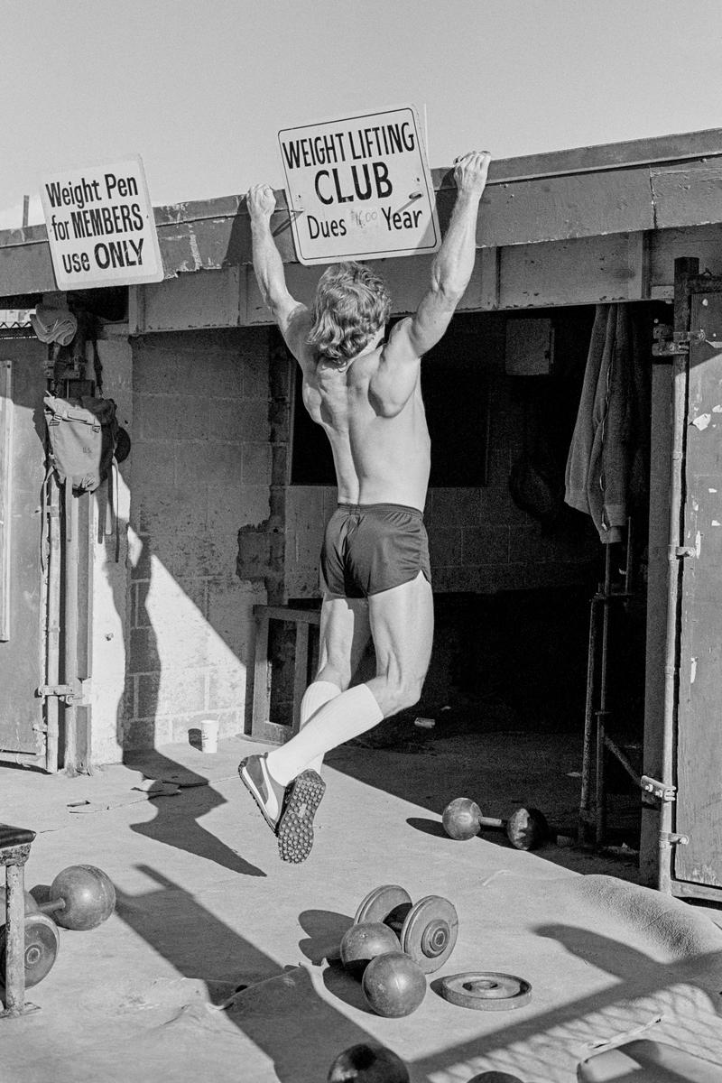
[(121, 741), (147, 748), (186, 740), (202, 718), (242, 731), (252, 606), (267, 600), (273, 559), (268, 330), (132, 347)]

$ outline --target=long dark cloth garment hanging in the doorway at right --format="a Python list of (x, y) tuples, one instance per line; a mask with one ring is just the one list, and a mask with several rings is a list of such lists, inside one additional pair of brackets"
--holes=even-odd
[(621, 540), (634, 487), (646, 483), (640, 335), (629, 305), (596, 306), (566, 464), (565, 500), (592, 517), (603, 543)]

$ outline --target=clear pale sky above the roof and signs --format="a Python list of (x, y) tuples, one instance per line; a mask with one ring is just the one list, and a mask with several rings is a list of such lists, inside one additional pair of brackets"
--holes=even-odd
[(722, 0), (2, 0), (0, 229), (140, 154), (154, 204), (283, 186), (280, 128), (425, 106), (432, 167), (722, 127)]

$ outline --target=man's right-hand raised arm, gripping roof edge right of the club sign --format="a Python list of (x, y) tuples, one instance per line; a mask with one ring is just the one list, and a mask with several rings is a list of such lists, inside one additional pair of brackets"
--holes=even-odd
[(476, 255), (478, 204), (490, 160), (487, 151), (475, 151), (464, 154), (455, 164), (457, 198), (446, 236), (432, 265), (431, 286), (416, 314), (399, 325), (417, 357), (443, 337), (469, 285)]

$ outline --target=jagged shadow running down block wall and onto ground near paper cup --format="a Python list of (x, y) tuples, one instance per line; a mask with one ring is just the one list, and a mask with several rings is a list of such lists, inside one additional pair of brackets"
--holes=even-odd
[[(150, 560), (152, 549), (147, 538), (139, 539), (142, 551), (139, 553), (139, 563), (142, 560), (143, 566), (147, 567), (147, 583), (149, 585), (153, 575), (153, 562)], [(139, 582), (133, 578), (133, 589)], [(119, 595), (122, 592), (122, 597)], [(119, 613), (126, 609), (124, 588), (119, 584), (114, 584), (114, 601)], [(131, 627), (128, 630), (130, 641), (133, 630), (142, 629), (145, 635), (144, 653), (148, 661), (148, 666), (154, 673), (161, 673), (161, 661), (158, 653), (158, 640), (153, 627), (153, 621), (145, 604), (147, 591), (137, 590), (137, 611)], [(126, 748), (127, 728), (126, 718), (132, 717), (132, 709), (127, 710), (126, 697), (129, 695), (128, 688), (118, 704), (117, 710), (117, 739), (122, 748), (122, 762), (134, 770), (142, 771), (146, 779), (157, 779), (159, 781), (175, 782), (181, 786), (180, 797), (159, 797), (152, 799), (156, 815), (153, 820), (139, 821), (131, 824), (131, 831), (139, 835), (145, 835), (157, 843), (171, 846), (178, 850), (185, 850), (194, 857), (202, 858), (206, 861), (214, 861), (223, 869), (231, 872), (240, 873), (244, 876), (265, 876), (265, 873), (257, 865), (246, 861), (234, 849), (222, 843), (215, 835), (207, 831), (198, 821), (213, 809), (226, 804), (226, 798), (214, 790), (208, 779), (170, 759), (168, 756), (155, 748), (156, 740), (156, 713), (158, 708), (158, 693), (156, 686), (153, 686), (148, 694), (144, 696), (146, 706), (144, 707), (147, 719), (147, 735), (144, 743), (146, 749)]]

